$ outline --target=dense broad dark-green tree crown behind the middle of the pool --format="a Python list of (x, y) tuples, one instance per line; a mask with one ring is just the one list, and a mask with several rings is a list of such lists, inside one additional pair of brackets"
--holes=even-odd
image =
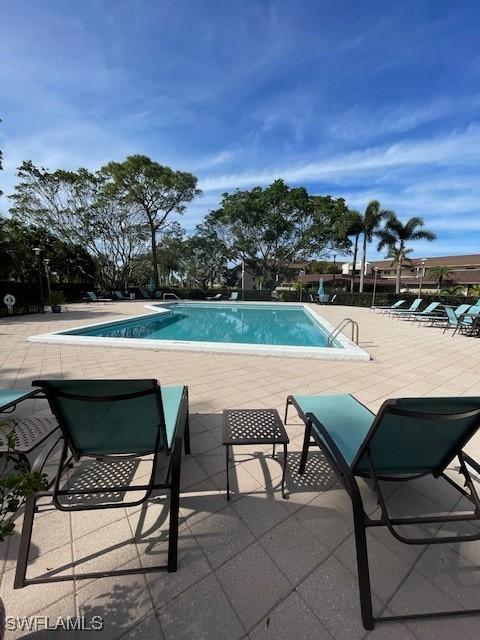
[(303, 187), (276, 180), (266, 188), (223, 194), (207, 222), (218, 229), (232, 258), (247, 260), (271, 283), (292, 262), (347, 247), (346, 212), (341, 198), (310, 196)]

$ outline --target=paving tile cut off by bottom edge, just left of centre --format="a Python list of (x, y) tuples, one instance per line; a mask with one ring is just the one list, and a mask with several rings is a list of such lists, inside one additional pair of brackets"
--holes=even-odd
[(245, 635), (213, 575), (162, 607), (158, 615), (165, 640), (239, 640)]

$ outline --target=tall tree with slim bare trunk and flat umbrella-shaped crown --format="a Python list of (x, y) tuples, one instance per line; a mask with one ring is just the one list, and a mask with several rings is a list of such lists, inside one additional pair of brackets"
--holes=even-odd
[(155, 284), (159, 286), (157, 235), (172, 213), (183, 213), (185, 205), (201, 194), (197, 178), (174, 171), (147, 156), (129, 156), (124, 162), (109, 162), (102, 174), (107, 193), (133, 209), (148, 227)]

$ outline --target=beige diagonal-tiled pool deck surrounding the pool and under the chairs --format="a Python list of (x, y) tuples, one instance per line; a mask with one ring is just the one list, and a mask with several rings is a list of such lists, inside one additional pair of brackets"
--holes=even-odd
[[(142, 351), (28, 342), (27, 337), (97, 321), (148, 313), (142, 302), (69, 305), (0, 322), (0, 386), (29, 387), (38, 377), (158, 378), (187, 384), (190, 392), (192, 456), (182, 467), (179, 570), (28, 586), (12, 589), (17, 533), (0, 543), (0, 590), (10, 616), (101, 615), (105, 631), (65, 632), (57, 637), (249, 638), (318, 640), (337, 638), (413, 640), (478, 639), (480, 616), (428, 622), (379, 624), (367, 633), (360, 620), (350, 507), (319, 454), (307, 474), (296, 473), (303, 429), (287, 426), (288, 500), (278, 488), (281, 465), (253, 447), (235, 452), (231, 480), (236, 495), (224, 496), (221, 412), (234, 407), (282, 410), (290, 393), (352, 393), (376, 411), (395, 396), (480, 396), (480, 340), (443, 335), (352, 307), (322, 307), (333, 325), (351, 316), (360, 325), (370, 362), (249, 355)], [(45, 402), (20, 406), (18, 415), (48, 413)], [(268, 452), (270, 450), (268, 449)], [(469, 451), (480, 458), (480, 438)], [(142, 463), (143, 464), (143, 463)], [(145, 468), (135, 470), (141, 477)], [(452, 509), (458, 498), (438, 481), (394, 488), (393, 509)], [(376, 505), (364, 487), (369, 510)], [(161, 504), (148, 509), (65, 514), (44, 507), (35, 520), (30, 575), (51, 567), (96, 569), (158, 562), (165, 553)], [(376, 610), (394, 614), (479, 606), (480, 542), (409, 547), (386, 531), (368, 535)], [(160, 560), (161, 561), (161, 560)], [(53, 637), (53, 632), (31, 634)], [(28, 637), (25, 631), (7, 638)]]

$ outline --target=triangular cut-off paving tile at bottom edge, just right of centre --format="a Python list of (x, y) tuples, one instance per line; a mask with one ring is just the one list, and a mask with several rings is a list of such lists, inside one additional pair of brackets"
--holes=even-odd
[(295, 591), (249, 633), (250, 640), (332, 640)]

